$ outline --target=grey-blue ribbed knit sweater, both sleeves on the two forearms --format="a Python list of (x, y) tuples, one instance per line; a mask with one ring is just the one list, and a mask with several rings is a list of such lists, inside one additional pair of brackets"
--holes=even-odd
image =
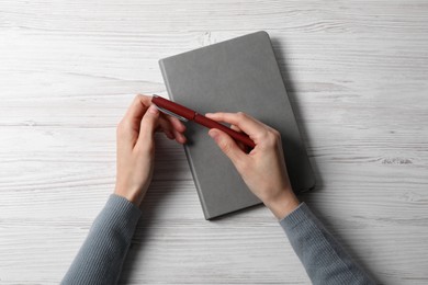
[[(116, 284), (142, 213), (112, 194), (61, 284)], [(302, 203), (280, 221), (313, 284), (374, 284)]]

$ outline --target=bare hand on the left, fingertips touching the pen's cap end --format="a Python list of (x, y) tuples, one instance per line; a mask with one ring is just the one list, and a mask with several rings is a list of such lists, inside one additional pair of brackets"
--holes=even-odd
[(136, 95), (117, 126), (117, 170), (114, 193), (139, 206), (150, 184), (155, 157), (155, 132), (185, 142), (185, 127), (176, 117), (160, 114), (151, 96)]

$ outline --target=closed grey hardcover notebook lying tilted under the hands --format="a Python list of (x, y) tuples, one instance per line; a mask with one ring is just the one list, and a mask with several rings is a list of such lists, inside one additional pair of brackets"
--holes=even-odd
[[(245, 112), (278, 129), (294, 191), (314, 186), (314, 173), (266, 32), (164, 58), (159, 65), (172, 101), (200, 114)], [(205, 218), (259, 204), (207, 132), (188, 123), (184, 146)]]

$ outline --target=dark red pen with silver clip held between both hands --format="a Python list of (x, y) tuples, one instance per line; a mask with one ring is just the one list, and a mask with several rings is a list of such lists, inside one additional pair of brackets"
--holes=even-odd
[(180, 104), (177, 104), (172, 101), (169, 101), (165, 98), (154, 95), (151, 99), (151, 102), (164, 113), (174, 116), (181, 121), (194, 121), (195, 123), (207, 127), (207, 128), (217, 128), (223, 130), (224, 133), (228, 134), (234, 139), (243, 142), (244, 145), (255, 148), (256, 144), (245, 134), (238, 133), (225, 125), (219, 124), (218, 122), (215, 122), (211, 118), (207, 118), (198, 112), (188, 109), (185, 106), (182, 106)]

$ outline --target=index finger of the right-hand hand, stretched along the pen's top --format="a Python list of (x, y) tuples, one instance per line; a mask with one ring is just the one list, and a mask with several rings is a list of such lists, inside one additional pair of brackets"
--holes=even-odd
[(263, 123), (257, 121), (256, 118), (243, 112), (207, 113), (205, 114), (205, 116), (214, 121), (226, 122), (237, 126), (239, 129), (246, 133), (252, 140), (262, 137), (267, 132), (267, 126)]

